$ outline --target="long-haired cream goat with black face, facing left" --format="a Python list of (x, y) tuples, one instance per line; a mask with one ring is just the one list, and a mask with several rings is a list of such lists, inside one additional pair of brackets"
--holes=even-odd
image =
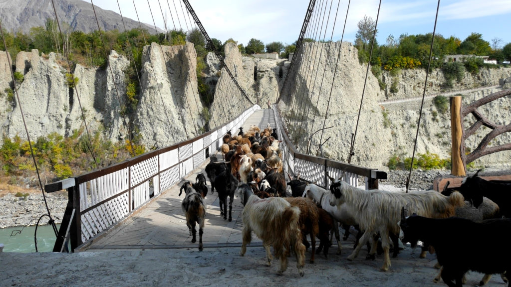
[[(332, 179), (332, 178), (331, 178)], [(330, 198), (330, 205), (345, 203), (352, 211), (355, 220), (364, 230), (360, 241), (348, 260), (357, 257), (362, 246), (371, 236), (380, 233), (385, 261), (382, 271), (390, 267), (389, 235), (399, 234), (398, 222), (401, 220), (401, 207), (411, 206), (413, 211), (428, 218), (448, 218), (454, 216), (456, 207), (464, 205), (463, 196), (452, 193), (446, 197), (434, 190), (414, 193), (393, 193), (384, 190), (363, 190), (356, 188), (344, 181), (333, 180), (330, 191), (334, 197)], [(376, 252), (375, 245), (371, 248), (370, 255)]]

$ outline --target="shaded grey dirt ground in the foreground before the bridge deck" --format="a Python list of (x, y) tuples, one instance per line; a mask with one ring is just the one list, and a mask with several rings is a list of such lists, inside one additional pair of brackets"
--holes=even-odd
[[(435, 256), (420, 259), (420, 248), (402, 250), (392, 258), (389, 271), (381, 272), (383, 256), (366, 260), (363, 249), (354, 261), (346, 257), (353, 242), (346, 242), (343, 254), (331, 249), (328, 259), (316, 255), (306, 261), (300, 277), (296, 260), (278, 274), (278, 260), (267, 267), (262, 247), (249, 247), (240, 256), (239, 247), (197, 249), (133, 249), (80, 253), (0, 253), (0, 286), (445, 286), (433, 283), (438, 270)], [(310, 251), (310, 250), (309, 250)], [(310, 258), (310, 253), (306, 253)], [(482, 274), (467, 276), (467, 286), (478, 284)], [(489, 286), (502, 286), (493, 276)]]

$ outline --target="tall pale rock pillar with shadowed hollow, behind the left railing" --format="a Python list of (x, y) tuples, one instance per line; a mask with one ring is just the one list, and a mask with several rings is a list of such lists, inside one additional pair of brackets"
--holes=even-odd
[[(163, 53), (162, 53), (163, 52)], [(203, 132), (193, 44), (144, 47), (137, 135), (148, 148), (173, 145)]]

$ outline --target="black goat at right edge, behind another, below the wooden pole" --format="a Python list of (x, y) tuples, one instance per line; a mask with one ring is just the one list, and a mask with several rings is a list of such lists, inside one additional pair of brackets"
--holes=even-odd
[(491, 199), (499, 208), (502, 216), (511, 218), (511, 182), (488, 181), (477, 176), (481, 170), (463, 180), (458, 190), (465, 200), (472, 202), (474, 207), (479, 207), (483, 197)]

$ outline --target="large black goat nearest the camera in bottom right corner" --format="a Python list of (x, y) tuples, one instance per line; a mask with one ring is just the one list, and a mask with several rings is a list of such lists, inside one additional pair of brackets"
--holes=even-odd
[[(400, 227), (403, 243), (414, 247), (417, 241), (423, 241), (434, 247), (438, 263), (443, 267), (442, 279), (450, 287), (462, 286), (462, 277), (469, 270), (486, 274), (511, 272), (511, 261), (503, 260), (511, 256), (509, 219), (473, 222), (456, 217), (429, 219), (412, 215), (405, 218), (403, 208)], [(474, 248), (479, 250), (469, 252)]]

